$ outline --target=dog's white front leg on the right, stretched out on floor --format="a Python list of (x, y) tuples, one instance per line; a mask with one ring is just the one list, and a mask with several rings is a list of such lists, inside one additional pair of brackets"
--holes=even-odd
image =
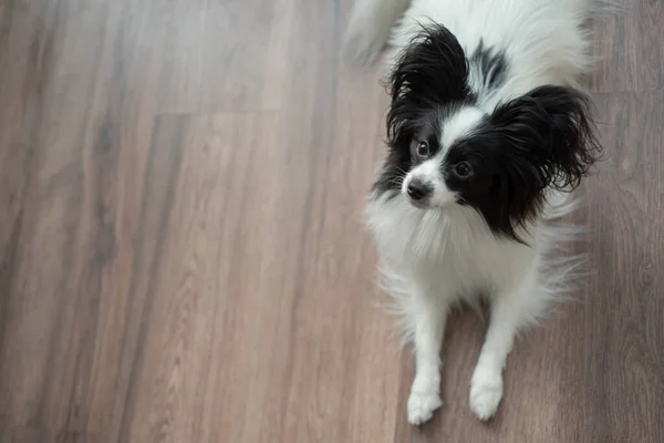
[(491, 320), (470, 381), (470, 409), (479, 420), (489, 420), (502, 399), (502, 370), (515, 336), (525, 323), (530, 297), (537, 297), (537, 271), (528, 270), (510, 292), (497, 293)]

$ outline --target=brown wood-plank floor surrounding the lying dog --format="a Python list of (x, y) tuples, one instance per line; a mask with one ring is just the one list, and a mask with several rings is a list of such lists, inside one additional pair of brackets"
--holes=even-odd
[(596, 24), (608, 159), (582, 302), (522, 337), (497, 418), (412, 378), (361, 224), (387, 104), (352, 0), (1, 0), (0, 442), (664, 442), (664, 2)]

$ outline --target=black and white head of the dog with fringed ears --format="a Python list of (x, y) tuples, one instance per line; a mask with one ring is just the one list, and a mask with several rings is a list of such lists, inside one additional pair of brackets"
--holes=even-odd
[(423, 210), (471, 206), (495, 234), (518, 239), (515, 229), (541, 209), (544, 190), (578, 186), (600, 146), (585, 97), (570, 87), (540, 86), (481, 111), (469, 70), (479, 65), (481, 84), (498, 87), (507, 62), (473, 62), (442, 25), (424, 28), (400, 55), (388, 85), (388, 155), (374, 190)]

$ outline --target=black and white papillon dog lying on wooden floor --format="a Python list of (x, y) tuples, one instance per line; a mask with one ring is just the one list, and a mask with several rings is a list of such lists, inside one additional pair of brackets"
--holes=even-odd
[[(366, 205), (387, 292), (414, 346), (412, 424), (443, 404), (440, 348), (458, 302), (490, 306), (469, 406), (502, 399), (516, 334), (569, 291), (557, 250), (571, 193), (602, 157), (582, 78), (593, 0), (359, 0), (347, 53), (391, 65), (387, 153)], [(478, 296), (480, 295), (480, 296)]]

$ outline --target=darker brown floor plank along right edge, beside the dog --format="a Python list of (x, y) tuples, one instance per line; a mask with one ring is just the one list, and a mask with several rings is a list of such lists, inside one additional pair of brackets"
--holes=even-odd
[(584, 344), (566, 362), (582, 374), (568, 389), (584, 403), (588, 441), (664, 440), (663, 100), (596, 97), (609, 159), (588, 187), (594, 272), (572, 317)]

